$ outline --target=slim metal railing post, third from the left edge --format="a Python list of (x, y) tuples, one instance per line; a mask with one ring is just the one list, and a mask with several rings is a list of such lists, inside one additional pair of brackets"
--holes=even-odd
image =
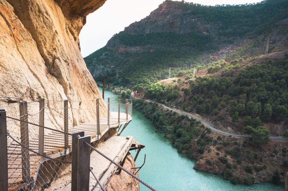
[[(44, 126), (44, 108), (45, 100), (41, 99), (39, 101), (39, 125)], [(44, 128), (39, 127), (39, 140), (38, 140), (38, 152), (43, 155), (44, 153)]]

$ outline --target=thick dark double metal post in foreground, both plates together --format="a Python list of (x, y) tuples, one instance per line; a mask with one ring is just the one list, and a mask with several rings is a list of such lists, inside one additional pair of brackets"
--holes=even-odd
[(84, 136), (84, 132), (73, 133), (72, 136), (71, 191), (87, 191), (89, 190), (91, 149), (84, 141), (90, 143), (91, 137)]

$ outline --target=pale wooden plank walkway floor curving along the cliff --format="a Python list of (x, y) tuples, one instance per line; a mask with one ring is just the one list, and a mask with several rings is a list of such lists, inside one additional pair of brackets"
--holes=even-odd
[[(68, 127), (69, 133), (85, 131), (85, 135), (91, 136), (91, 142), (100, 139), (109, 128), (116, 128), (122, 124), (128, 123), (132, 120), (132, 117), (126, 113), (120, 113), (120, 123), (118, 122), (118, 112), (110, 112), (110, 126), (108, 126), (108, 118), (100, 119), (100, 135), (97, 135), (97, 121), (91, 121), (90, 123), (81, 123), (78, 126)], [(60, 156), (57, 153), (64, 151), (64, 134), (45, 129), (44, 134), (44, 155), (50, 157)], [(38, 137), (39, 135), (29, 137), (29, 148), (38, 152)], [(68, 136), (68, 151), (71, 149), (72, 137)], [(21, 161), (21, 146), (17, 143), (12, 143), (8, 148), (8, 190), (19, 190), (24, 188), (25, 184), (22, 181), (22, 161)], [(35, 175), (40, 157), (31, 155), (30, 152), (30, 174), (31, 178)]]

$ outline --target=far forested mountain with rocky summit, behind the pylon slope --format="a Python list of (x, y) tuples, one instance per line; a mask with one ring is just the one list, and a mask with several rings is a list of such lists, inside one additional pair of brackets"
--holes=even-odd
[(261, 55), (267, 37), (273, 37), (271, 47), (283, 46), (287, 7), (285, 0), (215, 7), (165, 1), (84, 60), (96, 81), (105, 74), (119, 86), (155, 83), (168, 77), (169, 68), (172, 77), (189, 74), (237, 47), (252, 47), (242, 56)]

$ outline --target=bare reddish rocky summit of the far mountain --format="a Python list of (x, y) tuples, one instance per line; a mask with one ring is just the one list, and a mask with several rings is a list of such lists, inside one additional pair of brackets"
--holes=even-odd
[(209, 23), (181, 5), (181, 2), (165, 1), (149, 16), (125, 27), (124, 31), (130, 34), (173, 32), (215, 35), (216, 29), (221, 27), (220, 23)]

